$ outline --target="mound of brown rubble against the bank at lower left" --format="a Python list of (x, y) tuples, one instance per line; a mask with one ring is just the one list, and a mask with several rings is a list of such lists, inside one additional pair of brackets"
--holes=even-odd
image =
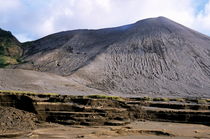
[(30, 131), (37, 127), (36, 114), (12, 107), (0, 106), (0, 134), (12, 131)]

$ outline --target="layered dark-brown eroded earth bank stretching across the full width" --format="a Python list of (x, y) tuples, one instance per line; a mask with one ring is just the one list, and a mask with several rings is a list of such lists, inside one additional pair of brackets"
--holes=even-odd
[[(13, 111), (10, 107), (19, 109), (14, 111), (20, 114), (20, 117), (24, 117), (21, 113), (26, 113), (34, 126), (36, 125), (34, 122), (41, 121), (87, 126), (120, 126), (136, 120), (210, 124), (209, 99), (121, 98), (4, 92), (0, 93), (0, 112), (1, 106), (10, 111)], [(0, 120), (4, 117), (7, 115), (1, 116)]]

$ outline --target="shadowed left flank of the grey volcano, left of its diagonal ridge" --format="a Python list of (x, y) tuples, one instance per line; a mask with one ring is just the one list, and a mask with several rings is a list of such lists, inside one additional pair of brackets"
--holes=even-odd
[(24, 60), (18, 67), (70, 75), (89, 64), (116, 42), (123, 29), (61, 32), (24, 44)]

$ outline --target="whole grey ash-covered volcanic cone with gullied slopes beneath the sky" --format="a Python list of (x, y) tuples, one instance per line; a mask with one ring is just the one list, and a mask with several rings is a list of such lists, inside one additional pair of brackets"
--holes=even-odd
[(19, 68), (69, 75), (114, 94), (210, 96), (210, 38), (158, 17), (26, 44)]

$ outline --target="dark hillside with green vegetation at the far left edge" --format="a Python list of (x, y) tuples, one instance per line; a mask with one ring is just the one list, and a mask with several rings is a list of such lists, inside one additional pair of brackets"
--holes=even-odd
[(21, 43), (9, 31), (0, 29), (0, 67), (19, 63)]

